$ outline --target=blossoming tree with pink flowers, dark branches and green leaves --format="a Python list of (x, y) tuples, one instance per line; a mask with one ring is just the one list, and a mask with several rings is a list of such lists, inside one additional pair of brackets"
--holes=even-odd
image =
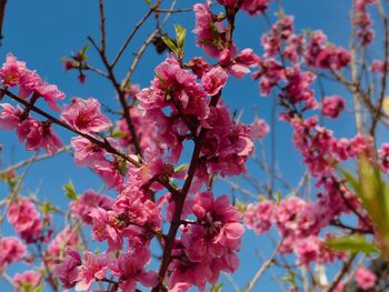
[[(9, 193), (0, 201), (0, 274), (9, 289), (266, 291), (260, 279), (273, 270), (280, 290), (385, 291), (389, 144), (378, 144), (377, 133), (389, 124), (388, 7), (381, 0), (350, 2), (350, 46), (341, 48), (322, 31), (297, 31), (299, 16), (271, 0), (206, 1), (190, 8), (146, 1), (146, 14), (109, 58), (106, 8), (99, 0), (99, 40), (88, 37), (97, 60), (84, 47), (62, 61), (81, 83), (89, 74), (107, 80), (119, 110), (92, 97), (67, 98), (47, 81), (50, 77), (41, 78), (8, 53), (0, 69), (0, 128), (32, 151), (32, 158), (1, 171)], [(376, 36), (370, 11), (377, 13)], [(196, 21), (192, 32), (202, 56), (187, 53), (186, 28), (176, 24), (172, 38), (163, 33), (172, 26), (169, 18), (181, 12)], [(240, 16), (268, 23), (258, 48), (236, 41)], [(152, 17), (154, 31), (119, 77), (116, 68), (128, 46)], [(132, 74), (150, 46), (164, 59), (154, 72), (143, 72), (151, 82), (140, 89)], [(371, 60), (371, 48), (383, 57)], [(296, 187), (263, 151), (261, 140), (276, 122), (269, 128), (256, 118), (245, 124), (223, 99), (229, 82), (245, 77), (259, 85), (260, 95), (275, 100), (279, 122), (292, 130), (295, 149), (288, 151), (298, 151), (307, 170)], [(318, 92), (317, 83), (335, 83), (348, 95)], [(325, 122), (346, 110), (352, 111), (357, 132), (341, 138)], [(59, 134), (64, 130), (70, 141)], [(253, 157), (256, 145), (260, 159)], [(74, 168), (99, 177), (107, 193), (93, 185), (78, 193), (68, 183), (69, 205), (58, 207), (24, 192), (31, 165), (60, 152), (73, 155)], [(250, 179), (253, 171), (248, 177), (250, 159), (265, 170), (265, 188)], [(243, 179), (231, 179), (240, 175), (260, 190), (255, 198), (236, 200), (215, 184), (222, 180), (247, 194)], [(283, 192), (275, 191), (276, 180)], [(239, 270), (240, 250), (256, 248), (241, 244), (245, 231), (270, 234), (277, 242), (251, 280), (236, 283), (231, 274)], [(12, 265), (23, 268), (11, 274)]]

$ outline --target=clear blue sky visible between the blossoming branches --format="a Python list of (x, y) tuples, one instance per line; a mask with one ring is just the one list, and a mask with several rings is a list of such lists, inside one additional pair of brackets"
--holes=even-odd
[[(69, 102), (71, 97), (96, 97), (112, 108), (119, 108), (116, 100), (113, 88), (103, 79), (92, 73), (88, 73), (87, 82), (80, 84), (77, 81), (76, 72), (63, 71), (60, 58), (69, 56), (82, 48), (87, 41), (87, 36), (99, 37), (98, 1), (8, 1), (7, 14), (3, 24), (3, 46), (0, 48), (0, 62), (4, 60), (8, 52), (12, 52), (20, 60), (28, 63), (30, 69), (36, 69), (40, 75), (48, 82), (58, 84), (67, 93)], [(107, 33), (108, 33), (108, 56), (113, 58), (118, 48), (126, 39), (127, 34), (134, 23), (147, 11), (144, 1), (110, 0), (106, 1), (107, 8)], [(163, 1), (167, 2), (167, 1)], [(179, 1), (179, 7), (189, 8), (196, 1)], [(339, 0), (291, 0), (285, 1), (283, 9), (287, 14), (295, 14), (296, 30), (300, 31), (310, 28), (311, 30), (322, 29), (331, 42), (347, 47), (349, 34), (349, 2)], [(269, 10), (269, 16), (278, 11), (276, 4)], [(151, 20), (149, 24), (141, 29), (133, 43), (130, 44), (127, 53), (117, 68), (117, 74), (121, 79), (131, 61), (132, 53), (138, 50), (144, 38), (153, 30), (154, 23)], [(201, 56), (199, 48), (193, 46), (194, 39), (191, 30), (194, 26), (192, 13), (180, 13), (171, 18), (167, 26), (167, 31), (172, 32), (172, 24), (180, 23), (188, 29), (187, 60), (194, 56)], [(257, 52), (260, 49), (260, 36), (267, 30), (267, 24), (262, 18), (249, 18), (246, 13), (237, 20), (236, 42), (240, 49), (252, 47)], [(377, 54), (377, 52), (372, 52)], [(96, 52), (90, 49), (91, 62), (99, 68), (101, 63)], [(136, 74), (133, 83), (140, 83), (147, 87), (153, 77), (153, 68), (162, 61), (164, 56), (158, 56), (153, 48), (149, 48), (142, 59)], [(326, 87), (328, 94), (346, 94), (345, 90), (338, 87)], [(271, 117), (272, 99), (261, 98), (258, 92), (257, 82), (250, 78), (245, 80), (231, 80), (228, 90), (223, 91), (226, 103), (230, 104), (231, 111), (242, 110), (242, 120), (251, 122), (253, 118), (253, 105), (257, 107), (259, 117), (268, 122)], [(348, 101), (348, 105), (351, 103)], [(337, 127), (336, 135), (352, 137), (355, 133), (353, 120), (350, 114), (345, 114)], [(69, 143), (69, 133), (57, 130), (61, 133), (63, 141)], [(281, 173), (291, 184), (300, 179), (303, 171), (298, 153), (292, 149), (290, 127), (285, 123), (277, 123), (272, 129), (277, 137), (277, 161)], [(351, 134), (350, 134), (351, 133)], [(32, 153), (26, 153), (23, 145), (17, 143), (13, 133), (1, 131), (0, 143), (4, 145), (2, 155), (2, 165), (9, 165), (12, 161), (30, 157)], [(267, 150), (270, 148), (270, 139), (266, 138)], [(263, 180), (261, 171), (250, 163), (249, 172), (251, 175)], [(77, 169), (72, 164), (72, 159), (67, 154), (61, 154), (51, 160), (36, 163), (26, 179), (26, 190), (36, 191), (39, 189), (39, 197), (52, 200), (56, 204), (66, 208), (67, 199), (63, 198), (62, 185), (73, 180), (78, 191), (87, 189), (100, 189), (101, 181), (90, 171)], [(1, 189), (2, 190), (2, 189)], [(223, 183), (218, 183), (216, 193), (231, 193), (230, 188)], [(0, 193), (0, 199), (4, 195), (4, 190)], [(10, 230), (4, 233), (11, 234)], [(241, 269), (232, 275), (233, 279), (245, 286), (252, 278), (260, 265), (259, 254), (266, 255), (271, 252), (271, 244), (265, 236), (259, 238), (247, 232), (241, 252)], [(12, 270), (18, 270), (13, 268)], [(223, 291), (233, 291), (228, 281)], [(263, 288), (261, 291), (281, 291), (275, 283), (271, 274), (267, 274), (260, 281)], [(4, 283), (0, 280), (1, 291), (6, 291)]]

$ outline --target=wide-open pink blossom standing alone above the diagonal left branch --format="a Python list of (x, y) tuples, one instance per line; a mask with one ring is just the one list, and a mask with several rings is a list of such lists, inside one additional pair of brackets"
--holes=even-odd
[(73, 98), (72, 103), (63, 109), (62, 119), (83, 133), (101, 132), (111, 125), (109, 119), (101, 114), (99, 101), (93, 98)]

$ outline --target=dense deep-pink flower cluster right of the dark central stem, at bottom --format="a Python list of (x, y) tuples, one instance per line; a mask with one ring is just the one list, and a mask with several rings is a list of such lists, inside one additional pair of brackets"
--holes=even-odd
[(231, 207), (227, 195), (216, 200), (210, 191), (194, 195), (191, 211), (197, 221), (181, 230), (180, 242), (176, 243), (176, 260), (170, 265), (169, 286), (189, 283), (205, 289), (207, 282), (216, 283), (221, 271), (233, 272), (239, 259), (243, 226), (239, 223), (240, 212)]

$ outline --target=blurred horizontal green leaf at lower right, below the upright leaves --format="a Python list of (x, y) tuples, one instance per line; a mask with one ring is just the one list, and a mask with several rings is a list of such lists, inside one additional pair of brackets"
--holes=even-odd
[(366, 254), (379, 252), (373, 242), (367, 241), (361, 234), (332, 238), (326, 241), (327, 245), (337, 251), (349, 251), (351, 253), (363, 252)]

